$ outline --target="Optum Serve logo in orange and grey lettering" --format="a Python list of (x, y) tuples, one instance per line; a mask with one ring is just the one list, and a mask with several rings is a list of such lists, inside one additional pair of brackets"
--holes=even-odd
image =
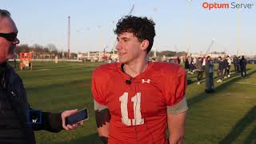
[(202, 8), (208, 10), (218, 10), (218, 9), (252, 9), (254, 7), (254, 3), (210, 3), (210, 2), (203, 2)]

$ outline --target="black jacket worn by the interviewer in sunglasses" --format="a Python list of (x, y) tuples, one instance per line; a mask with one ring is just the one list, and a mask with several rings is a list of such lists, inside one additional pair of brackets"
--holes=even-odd
[(42, 112), (40, 124), (29, 124), (26, 112), (32, 110), (22, 79), (6, 63), (0, 65), (0, 143), (34, 144), (34, 130), (62, 130), (61, 114)]

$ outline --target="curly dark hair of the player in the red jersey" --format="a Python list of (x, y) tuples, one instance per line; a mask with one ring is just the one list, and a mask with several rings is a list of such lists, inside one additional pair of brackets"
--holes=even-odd
[(146, 17), (135, 17), (126, 15), (120, 18), (117, 23), (114, 34), (122, 34), (124, 32), (133, 33), (139, 41), (148, 40), (150, 45), (147, 47), (146, 52), (149, 53), (154, 43), (154, 25), (153, 20)]

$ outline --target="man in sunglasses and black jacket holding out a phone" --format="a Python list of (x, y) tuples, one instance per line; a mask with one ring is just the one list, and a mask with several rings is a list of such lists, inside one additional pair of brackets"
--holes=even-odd
[(6, 61), (14, 58), (18, 30), (10, 12), (0, 10), (0, 143), (34, 144), (34, 130), (72, 130), (82, 124), (65, 125), (65, 118), (77, 112), (51, 114), (30, 108), (22, 79)]

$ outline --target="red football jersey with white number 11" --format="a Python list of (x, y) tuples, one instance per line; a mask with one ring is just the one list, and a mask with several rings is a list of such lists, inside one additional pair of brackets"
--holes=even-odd
[(186, 71), (167, 62), (149, 62), (132, 79), (121, 63), (106, 64), (92, 77), (94, 100), (110, 110), (110, 144), (166, 144), (166, 107), (180, 102), (185, 92)]

